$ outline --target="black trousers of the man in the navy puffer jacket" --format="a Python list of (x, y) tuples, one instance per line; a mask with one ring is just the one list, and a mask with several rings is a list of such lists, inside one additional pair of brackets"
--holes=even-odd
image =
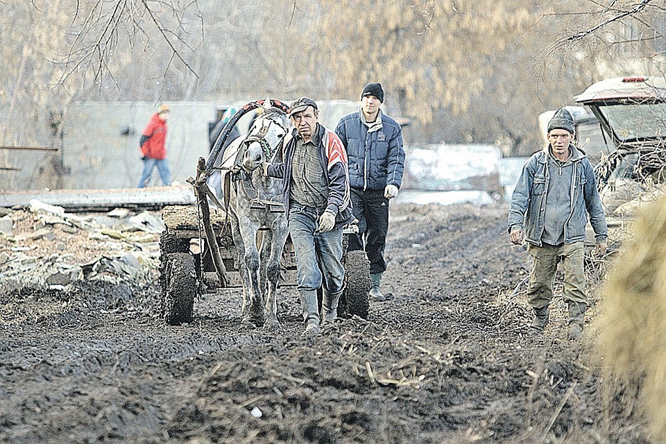
[(350, 235), (348, 250), (365, 250), (370, 274), (386, 271), (384, 250), (388, 232), (388, 199), (383, 189), (352, 188), (352, 210), (359, 220), (359, 234)]

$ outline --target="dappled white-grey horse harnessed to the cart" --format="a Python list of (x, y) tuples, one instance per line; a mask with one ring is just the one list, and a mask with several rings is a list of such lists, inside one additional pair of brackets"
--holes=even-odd
[(282, 207), (282, 179), (265, 176), (262, 163), (282, 160), (283, 141), (293, 126), (285, 112), (270, 108), (268, 99), (264, 107), (248, 134), (225, 149), (220, 168), (226, 172), (222, 190), (216, 191), (228, 194), (224, 201), (243, 280), (243, 321), (275, 329), (280, 326), (276, 298), (280, 259), (289, 228)]

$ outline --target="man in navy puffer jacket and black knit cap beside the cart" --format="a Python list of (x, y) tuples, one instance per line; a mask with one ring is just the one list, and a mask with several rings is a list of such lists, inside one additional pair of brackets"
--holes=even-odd
[(349, 237), (349, 250), (365, 249), (373, 289), (382, 298), (379, 281), (386, 271), (384, 249), (388, 231), (388, 200), (398, 196), (404, 169), (400, 124), (379, 109), (384, 89), (368, 83), (361, 92), (361, 110), (340, 119), (336, 134), (347, 148), (352, 210), (359, 235)]

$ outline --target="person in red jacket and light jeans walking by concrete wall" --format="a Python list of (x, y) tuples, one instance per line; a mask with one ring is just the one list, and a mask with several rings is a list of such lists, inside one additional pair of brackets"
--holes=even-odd
[(169, 171), (169, 164), (167, 164), (167, 149), (164, 147), (164, 142), (167, 141), (167, 120), (169, 119), (169, 107), (167, 105), (160, 105), (157, 112), (151, 116), (146, 128), (139, 140), (139, 148), (141, 148), (141, 160), (144, 162), (144, 170), (139, 179), (137, 187), (144, 188), (151, 181), (153, 169), (157, 167), (157, 172), (160, 173), (162, 184), (171, 184), (171, 171)]

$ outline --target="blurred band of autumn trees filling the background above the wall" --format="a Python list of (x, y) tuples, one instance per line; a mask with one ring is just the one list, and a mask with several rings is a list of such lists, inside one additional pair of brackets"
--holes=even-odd
[(387, 105), (411, 117), (414, 140), (529, 152), (539, 112), (570, 103), (601, 77), (658, 71), (666, 46), (666, 6), (658, 0), (376, 7), (372, 0), (2, 2), (0, 142), (49, 143), (52, 111), (77, 99), (357, 99), (364, 83), (378, 80)]

